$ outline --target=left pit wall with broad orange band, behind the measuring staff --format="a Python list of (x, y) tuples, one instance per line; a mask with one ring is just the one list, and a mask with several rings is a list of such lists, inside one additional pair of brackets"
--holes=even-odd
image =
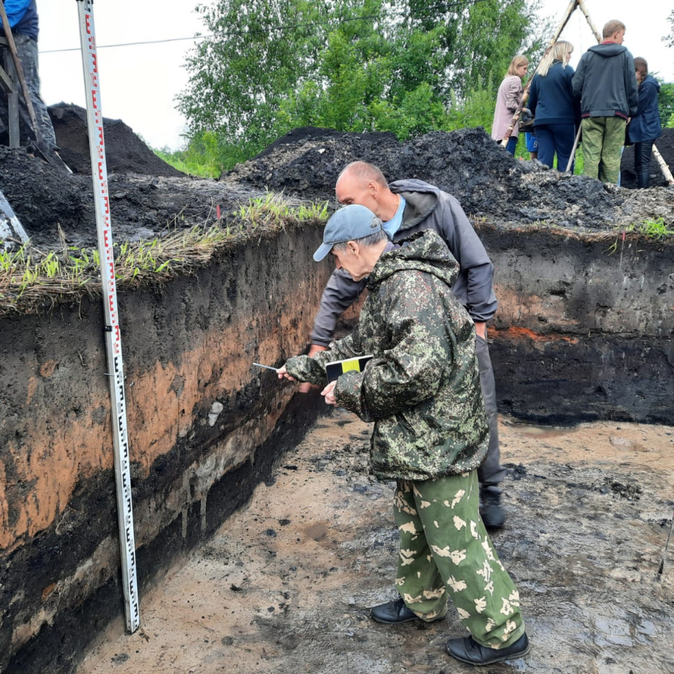
[[(192, 277), (119, 292), (141, 597), (322, 409), (252, 366), (305, 349), (331, 271), (320, 242), (256, 234)], [(0, 324), (0, 671), (72, 672), (124, 616), (101, 301)]]

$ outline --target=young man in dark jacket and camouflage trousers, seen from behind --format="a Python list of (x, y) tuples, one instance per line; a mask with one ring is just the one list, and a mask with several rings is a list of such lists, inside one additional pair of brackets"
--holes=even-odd
[(604, 26), (604, 41), (583, 54), (571, 83), (581, 99), (583, 174), (617, 183), (625, 128), (637, 112), (634, 59), (626, 47), (625, 24)]

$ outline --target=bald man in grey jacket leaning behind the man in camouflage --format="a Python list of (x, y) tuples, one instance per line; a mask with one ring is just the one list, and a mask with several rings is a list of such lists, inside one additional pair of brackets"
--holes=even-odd
[[(342, 171), (335, 191), (340, 204), (360, 204), (373, 211), (383, 220), (383, 227), (394, 242), (421, 230), (435, 230), (461, 267), (452, 292), (475, 322), (480, 383), (491, 432), (487, 458), (477, 470), (482, 499), (480, 514), (488, 529), (499, 529), (505, 521), (499, 486), (505, 468), (498, 446), (496, 387), (486, 325), (498, 306), (492, 287), (494, 265), (458, 201), (423, 180), (398, 180), (388, 185), (377, 166), (354, 161)], [(343, 270), (333, 272), (321, 298), (309, 355), (327, 348), (338, 318), (355, 302), (365, 285), (365, 279), (355, 282)]]

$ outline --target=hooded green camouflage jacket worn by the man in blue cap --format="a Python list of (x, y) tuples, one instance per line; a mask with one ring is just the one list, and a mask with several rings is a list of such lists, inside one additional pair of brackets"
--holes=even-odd
[(354, 331), (315, 357), (286, 363), (300, 381), (326, 385), (324, 366), (373, 355), (337, 381), (337, 404), (374, 421), (371, 465), (381, 480), (429, 480), (477, 468), (487, 454), (475, 326), (451, 294), (458, 264), (425, 230), (383, 253)]

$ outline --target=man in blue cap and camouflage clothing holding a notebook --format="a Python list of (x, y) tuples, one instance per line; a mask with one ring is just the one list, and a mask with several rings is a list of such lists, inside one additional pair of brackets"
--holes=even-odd
[(333, 253), (338, 268), (367, 279), (369, 294), (349, 336), (289, 359), (279, 377), (324, 385), (326, 363), (372, 355), (364, 371), (346, 371), (322, 391), (327, 403), (374, 421), (372, 470), (396, 480), (400, 596), (371, 615), (388, 624), (441, 620), (449, 595), (470, 632), (447, 642), (451, 656), (478, 665), (522, 656), (519, 595), (478, 511), (489, 424), (475, 326), (451, 292), (458, 263), (432, 230), (393, 244), (359, 205), (337, 211), (323, 241), (315, 260)]

